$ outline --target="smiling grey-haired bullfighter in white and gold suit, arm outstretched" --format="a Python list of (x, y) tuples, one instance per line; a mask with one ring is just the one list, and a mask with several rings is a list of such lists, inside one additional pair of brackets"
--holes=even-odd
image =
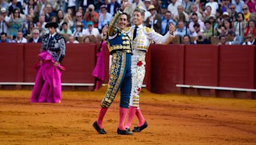
[(169, 31), (162, 36), (158, 34), (154, 29), (143, 26), (143, 18), (145, 13), (141, 9), (135, 9), (133, 12), (133, 26), (127, 27), (125, 32), (132, 39), (132, 90), (129, 102), (129, 116), (125, 128), (130, 128), (134, 115), (138, 117), (139, 124), (134, 127), (132, 132), (141, 132), (147, 127), (147, 121), (143, 118), (140, 111), (140, 91), (143, 79), (145, 76), (145, 56), (148, 51), (150, 43), (154, 41), (156, 44), (168, 45), (174, 38), (175, 27), (170, 24)]

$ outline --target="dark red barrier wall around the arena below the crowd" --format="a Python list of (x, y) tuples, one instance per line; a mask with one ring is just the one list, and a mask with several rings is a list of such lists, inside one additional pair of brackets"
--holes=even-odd
[[(99, 45), (66, 44), (61, 64), (63, 83), (94, 84), (92, 71)], [(0, 82), (34, 82), (40, 44), (0, 43)], [(105, 48), (105, 80), (108, 83), (109, 52)], [(254, 92), (180, 85), (256, 88), (255, 46), (151, 45), (146, 57), (144, 83), (154, 93), (185, 93), (216, 97), (255, 99)]]

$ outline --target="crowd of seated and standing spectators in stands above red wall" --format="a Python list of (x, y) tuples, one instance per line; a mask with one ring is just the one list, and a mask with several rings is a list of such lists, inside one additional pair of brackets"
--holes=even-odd
[[(177, 44), (255, 45), (256, 0), (129, 0), (145, 10), (144, 25), (159, 34), (176, 27)], [(0, 42), (40, 43), (47, 22), (67, 43), (99, 43), (122, 0), (0, 0)]]

